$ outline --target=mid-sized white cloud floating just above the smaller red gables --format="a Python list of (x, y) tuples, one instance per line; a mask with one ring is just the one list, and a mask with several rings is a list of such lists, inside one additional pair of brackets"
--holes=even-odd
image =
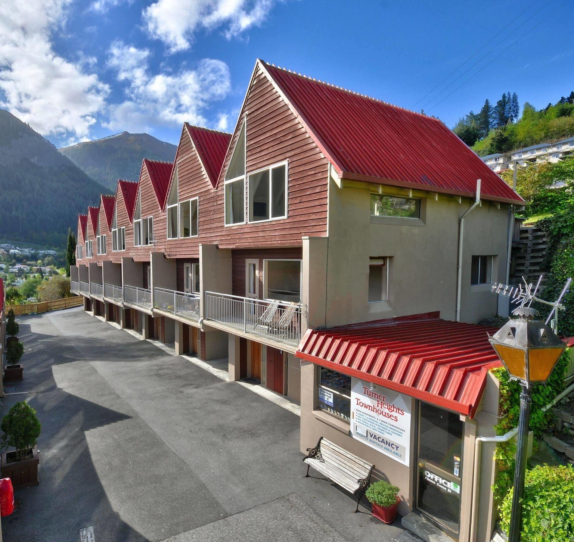
[(206, 124), (204, 114), (211, 102), (230, 91), (226, 63), (203, 59), (195, 69), (153, 74), (150, 52), (117, 41), (109, 51), (108, 65), (126, 82), (126, 100), (110, 106), (110, 130), (153, 131), (157, 125), (179, 126), (184, 121)]

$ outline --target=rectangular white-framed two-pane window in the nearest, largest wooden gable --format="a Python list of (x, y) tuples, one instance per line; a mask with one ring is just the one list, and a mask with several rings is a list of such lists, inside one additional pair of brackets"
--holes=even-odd
[(249, 222), (287, 216), (287, 164), (249, 175)]

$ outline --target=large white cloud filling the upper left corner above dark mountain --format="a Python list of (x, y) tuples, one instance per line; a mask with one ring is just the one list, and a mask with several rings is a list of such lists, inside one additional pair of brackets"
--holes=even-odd
[(57, 55), (51, 33), (65, 23), (71, 0), (0, 2), (0, 107), (41, 134), (87, 137), (105, 107), (109, 88), (80, 56)]

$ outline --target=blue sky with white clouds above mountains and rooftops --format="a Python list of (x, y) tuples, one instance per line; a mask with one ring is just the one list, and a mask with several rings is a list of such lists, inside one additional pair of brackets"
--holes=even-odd
[(0, 107), (57, 146), (123, 130), (177, 143), (183, 121), (233, 129), (260, 57), (452, 126), (506, 91), (540, 108), (574, 90), (570, 7), (2, 0)]

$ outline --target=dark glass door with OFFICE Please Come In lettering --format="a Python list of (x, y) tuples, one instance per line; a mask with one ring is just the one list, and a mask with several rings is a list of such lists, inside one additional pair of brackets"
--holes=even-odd
[(460, 528), (462, 452), (459, 415), (421, 402), (417, 508), (453, 535)]

